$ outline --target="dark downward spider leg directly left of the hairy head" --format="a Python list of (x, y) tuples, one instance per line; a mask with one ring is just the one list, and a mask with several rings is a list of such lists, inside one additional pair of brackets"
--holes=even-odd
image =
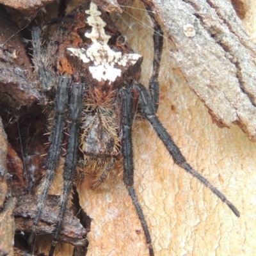
[(69, 138), (67, 145), (67, 158), (65, 162), (65, 169), (63, 172), (63, 195), (61, 195), (61, 207), (58, 216), (58, 222), (56, 224), (56, 230), (54, 232), (54, 238), (51, 245), (49, 256), (54, 254), (55, 246), (61, 231), (61, 225), (63, 222), (63, 216), (66, 211), (68, 196), (70, 195), (72, 184), (74, 181), (74, 175), (76, 173), (77, 164), (77, 148), (79, 146), (79, 119), (83, 106), (83, 91), (84, 84), (74, 83), (72, 84), (72, 92), (70, 96), (70, 124), (68, 127)]

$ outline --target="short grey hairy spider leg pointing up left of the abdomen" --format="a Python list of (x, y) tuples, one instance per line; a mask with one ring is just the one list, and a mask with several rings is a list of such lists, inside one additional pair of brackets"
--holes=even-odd
[(40, 80), (40, 84), (44, 91), (49, 91), (52, 88), (53, 77), (51, 72), (47, 71), (45, 67), (45, 63), (42, 59), (42, 31), (39, 27), (35, 27), (32, 29), (32, 45), (33, 45), (33, 62), (35, 63), (35, 68), (38, 70), (38, 78)]

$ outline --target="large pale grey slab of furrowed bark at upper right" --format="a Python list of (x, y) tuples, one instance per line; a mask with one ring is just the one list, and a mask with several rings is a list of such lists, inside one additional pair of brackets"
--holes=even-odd
[(256, 140), (256, 48), (232, 4), (223, 0), (154, 1), (189, 87), (212, 118), (237, 124)]

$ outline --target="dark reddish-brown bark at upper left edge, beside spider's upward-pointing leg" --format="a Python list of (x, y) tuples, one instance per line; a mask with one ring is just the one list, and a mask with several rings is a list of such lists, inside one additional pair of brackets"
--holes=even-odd
[(3, 6), (0, 24), (0, 108), (15, 116), (39, 100), (40, 94), (33, 83), (24, 40)]

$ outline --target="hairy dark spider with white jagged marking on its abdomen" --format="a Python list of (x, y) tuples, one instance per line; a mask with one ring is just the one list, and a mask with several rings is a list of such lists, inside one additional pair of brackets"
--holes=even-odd
[[(239, 211), (225, 195), (186, 162), (156, 116), (163, 31), (154, 19), (152, 6), (146, 1), (143, 3), (154, 25), (154, 61), (149, 90), (138, 83), (142, 56), (132, 51), (125, 37), (109, 19), (108, 13), (97, 4), (86, 1), (69, 13), (59, 22), (43, 49), (40, 28), (36, 27), (32, 31), (35, 70), (45, 97), (49, 98), (49, 102), (54, 98), (47, 172), (29, 237), (32, 246), (36, 225), (60, 161), (63, 137), (66, 137), (63, 134), (68, 133), (60, 213), (49, 255), (54, 254), (74, 180), (82, 182), (84, 173), (92, 172), (96, 177), (92, 186), (99, 187), (115, 168), (120, 155), (124, 157), (124, 184), (141, 221), (149, 255), (154, 255), (147, 221), (133, 186), (131, 132), (136, 111), (147, 118), (173, 161), (211, 189), (239, 217)], [(68, 132), (64, 132), (66, 123)]]

